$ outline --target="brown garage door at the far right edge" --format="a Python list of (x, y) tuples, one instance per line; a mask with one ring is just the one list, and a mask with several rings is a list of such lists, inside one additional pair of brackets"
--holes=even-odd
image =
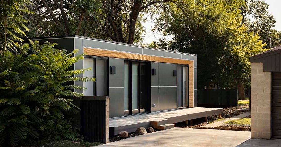
[(272, 73), (271, 137), (281, 138), (281, 72)]

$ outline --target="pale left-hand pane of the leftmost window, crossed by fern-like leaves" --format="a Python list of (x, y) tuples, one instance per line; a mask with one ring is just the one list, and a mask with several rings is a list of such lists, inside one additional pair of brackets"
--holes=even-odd
[[(84, 68), (92, 68), (92, 70), (85, 71), (84, 77), (94, 78), (95, 77), (95, 60), (94, 58), (84, 58)], [(84, 82), (84, 95), (93, 96), (95, 94), (95, 85), (94, 82)]]

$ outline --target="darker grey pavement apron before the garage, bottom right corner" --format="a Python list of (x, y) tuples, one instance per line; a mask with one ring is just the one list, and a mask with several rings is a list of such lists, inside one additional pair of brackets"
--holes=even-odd
[(262, 147), (262, 146), (281, 146), (281, 140), (275, 139), (250, 139), (237, 147)]

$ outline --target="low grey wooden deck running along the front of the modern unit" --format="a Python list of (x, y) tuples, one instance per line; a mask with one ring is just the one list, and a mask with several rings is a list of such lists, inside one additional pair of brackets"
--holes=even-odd
[(183, 108), (165, 112), (140, 114), (121, 118), (109, 119), (109, 134), (117, 135), (119, 132), (135, 132), (138, 127), (149, 128), (151, 121), (161, 121), (167, 119), (169, 124), (207, 117), (222, 113), (222, 108)]

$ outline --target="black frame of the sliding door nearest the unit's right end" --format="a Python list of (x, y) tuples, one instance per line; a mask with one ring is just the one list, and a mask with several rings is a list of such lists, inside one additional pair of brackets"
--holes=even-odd
[[(187, 94), (187, 106), (185, 107), (184, 104), (182, 104), (183, 107), (178, 107), (178, 81), (177, 81), (176, 82), (176, 84), (177, 84), (177, 109), (188, 108), (189, 107), (189, 65), (178, 64), (177, 71), (178, 71), (178, 66), (182, 67), (182, 80), (183, 80), (183, 67), (187, 67), (187, 92), (185, 92)], [(176, 80), (178, 80), (178, 75), (177, 75)], [(183, 92), (183, 84), (182, 84), (182, 92)]]

